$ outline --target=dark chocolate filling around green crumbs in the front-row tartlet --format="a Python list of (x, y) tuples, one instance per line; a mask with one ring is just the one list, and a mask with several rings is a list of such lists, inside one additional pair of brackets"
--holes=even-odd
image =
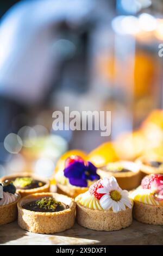
[(60, 205), (57, 205), (54, 210), (44, 209), (44, 208), (40, 208), (40, 206), (38, 206), (36, 202), (37, 200), (29, 202), (27, 204), (24, 204), (22, 207), (26, 210), (36, 211), (36, 212), (58, 212), (58, 211), (64, 211), (69, 208), (68, 205), (61, 203)]

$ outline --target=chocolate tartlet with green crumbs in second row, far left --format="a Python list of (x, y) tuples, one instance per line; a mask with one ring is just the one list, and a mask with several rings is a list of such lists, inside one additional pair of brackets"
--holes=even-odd
[(2, 182), (5, 180), (12, 181), (16, 187), (16, 192), (21, 194), (21, 197), (28, 194), (49, 192), (50, 182), (48, 179), (29, 173), (17, 173), (13, 175), (3, 176)]

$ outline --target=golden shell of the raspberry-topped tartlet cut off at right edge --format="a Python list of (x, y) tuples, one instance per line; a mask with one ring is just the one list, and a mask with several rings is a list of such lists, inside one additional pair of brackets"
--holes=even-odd
[(134, 201), (133, 217), (143, 223), (163, 225), (163, 206), (148, 205)]

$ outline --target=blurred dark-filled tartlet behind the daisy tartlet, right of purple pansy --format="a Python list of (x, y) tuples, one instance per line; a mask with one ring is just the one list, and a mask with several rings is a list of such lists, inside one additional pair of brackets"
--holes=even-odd
[(97, 169), (101, 178), (114, 176), (122, 190), (132, 190), (140, 185), (141, 172), (139, 164), (130, 161), (108, 163)]

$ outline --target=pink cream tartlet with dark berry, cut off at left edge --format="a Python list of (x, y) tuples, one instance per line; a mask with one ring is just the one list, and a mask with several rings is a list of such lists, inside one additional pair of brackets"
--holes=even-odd
[(16, 187), (7, 181), (0, 184), (0, 225), (13, 222), (17, 218), (17, 202), (20, 194), (16, 193)]

